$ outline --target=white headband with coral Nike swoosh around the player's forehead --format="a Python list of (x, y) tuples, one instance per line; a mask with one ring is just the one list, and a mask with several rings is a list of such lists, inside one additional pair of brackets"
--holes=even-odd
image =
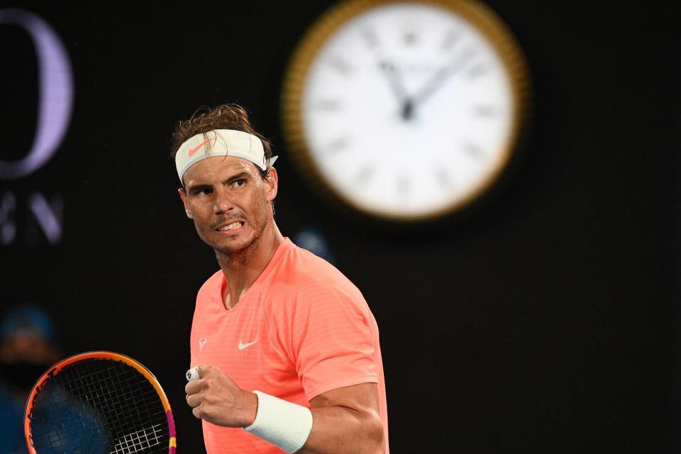
[(262, 141), (253, 134), (233, 129), (214, 129), (207, 133), (193, 135), (185, 140), (175, 154), (175, 167), (179, 181), (189, 167), (206, 157), (235, 156), (253, 162), (260, 170), (267, 170), (277, 160), (277, 156), (265, 157)]

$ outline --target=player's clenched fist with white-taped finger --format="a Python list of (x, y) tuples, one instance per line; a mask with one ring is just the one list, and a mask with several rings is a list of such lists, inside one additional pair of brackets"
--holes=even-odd
[(256, 394), (241, 389), (214, 366), (199, 366), (199, 376), (184, 387), (196, 418), (223, 427), (246, 427), (255, 421)]

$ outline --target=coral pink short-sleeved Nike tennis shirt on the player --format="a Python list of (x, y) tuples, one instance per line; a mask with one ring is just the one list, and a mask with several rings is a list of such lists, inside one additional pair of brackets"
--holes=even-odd
[[(325, 260), (285, 238), (230, 311), (222, 271), (199, 290), (192, 323), (194, 365), (214, 365), (239, 387), (311, 408), (319, 394), (377, 383), (388, 453), (378, 327), (359, 289)], [(203, 421), (208, 454), (282, 453), (242, 428)]]

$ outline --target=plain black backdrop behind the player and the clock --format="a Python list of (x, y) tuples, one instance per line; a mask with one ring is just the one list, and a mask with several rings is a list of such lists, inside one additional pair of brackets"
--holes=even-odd
[[(530, 65), (532, 126), (504, 184), (465, 216), (384, 231), (304, 184), (279, 126), (282, 78), (331, 1), (39, 5), (75, 83), (59, 152), (26, 178), (0, 248), (3, 307), (57, 320), (67, 353), (114, 350), (159, 378), (179, 452), (196, 290), (217, 269), (176, 194), (175, 122), (243, 104), (279, 154), (277, 223), (314, 226), (381, 329), (394, 453), (674, 452), (680, 271), (678, 11), (489, 1)], [(28, 34), (0, 25), (0, 159), (31, 145)], [(65, 204), (57, 246), (31, 235), (33, 192)], [(38, 231), (39, 233), (39, 231)]]

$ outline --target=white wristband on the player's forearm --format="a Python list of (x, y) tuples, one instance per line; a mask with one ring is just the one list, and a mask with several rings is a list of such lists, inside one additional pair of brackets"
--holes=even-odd
[(286, 453), (303, 447), (312, 430), (312, 412), (306, 406), (287, 402), (260, 391), (255, 421), (244, 430), (277, 445)]

